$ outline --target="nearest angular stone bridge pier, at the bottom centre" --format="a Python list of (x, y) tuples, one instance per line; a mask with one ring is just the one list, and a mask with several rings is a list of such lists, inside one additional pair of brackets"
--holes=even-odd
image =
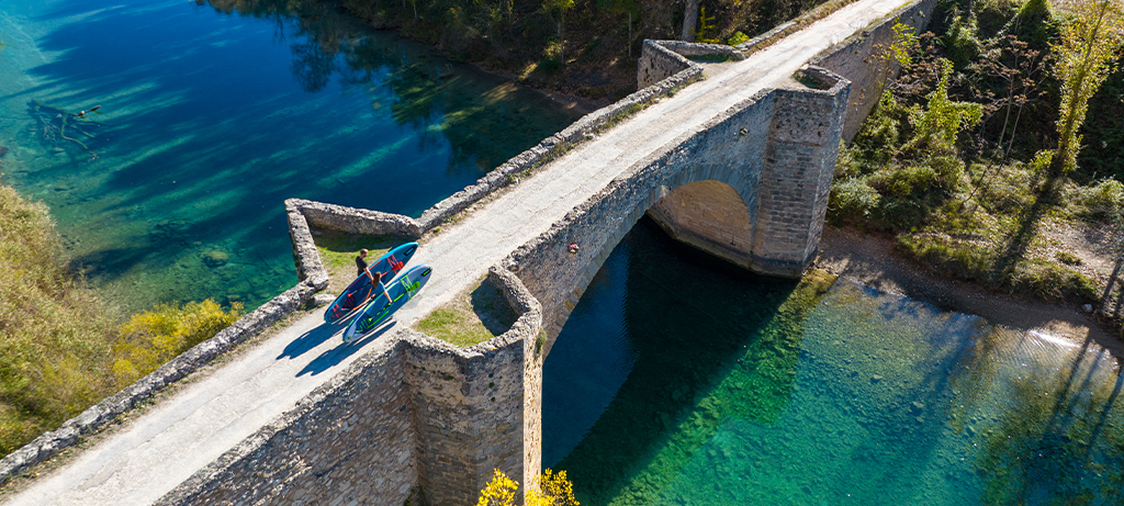
[(474, 504), (493, 469), (520, 484), (538, 475), (541, 428), (525, 424), (541, 419), (538, 302), (510, 273), (493, 268), (489, 278), (520, 314), (508, 332), (461, 350), (405, 331), (420, 484), (434, 506)]

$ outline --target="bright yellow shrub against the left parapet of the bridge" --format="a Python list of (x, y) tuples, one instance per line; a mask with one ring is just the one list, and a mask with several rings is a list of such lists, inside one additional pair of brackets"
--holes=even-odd
[(224, 310), (207, 299), (202, 302), (162, 304), (133, 315), (120, 327), (114, 343), (114, 376), (124, 387), (155, 371), (169, 360), (188, 351), (238, 319), (242, 305)]

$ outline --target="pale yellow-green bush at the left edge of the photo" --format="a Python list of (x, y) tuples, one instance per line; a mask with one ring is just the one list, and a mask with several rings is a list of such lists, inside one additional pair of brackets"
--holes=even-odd
[(65, 268), (43, 205), (0, 186), (0, 453), (111, 390), (114, 322)]

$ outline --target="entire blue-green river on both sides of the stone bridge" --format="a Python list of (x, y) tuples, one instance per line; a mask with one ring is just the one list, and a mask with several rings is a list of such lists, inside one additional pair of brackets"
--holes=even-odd
[[(3, 180), (126, 309), (253, 307), (296, 282), (283, 199), (416, 216), (573, 120), (330, 2), (4, 0), (0, 44)], [(544, 378), (543, 461), (587, 506), (1124, 504), (1095, 344), (750, 275), (646, 220)]]

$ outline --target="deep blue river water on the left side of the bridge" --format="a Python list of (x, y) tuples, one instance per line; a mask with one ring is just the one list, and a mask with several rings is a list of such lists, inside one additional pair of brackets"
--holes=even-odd
[(573, 119), (332, 2), (4, 0), (0, 43), (3, 180), (132, 310), (261, 304), (285, 198), (417, 216)]

